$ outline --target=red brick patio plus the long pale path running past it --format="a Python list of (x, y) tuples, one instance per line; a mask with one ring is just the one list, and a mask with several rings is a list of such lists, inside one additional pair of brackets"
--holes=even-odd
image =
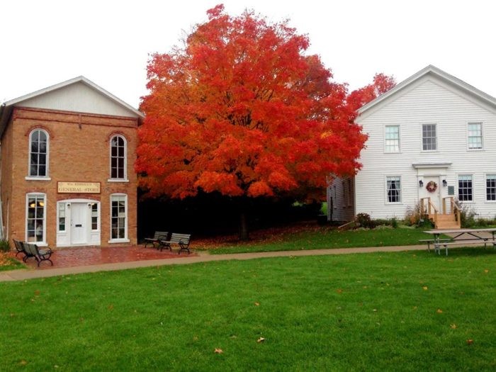
[[(20, 281), (31, 278), (47, 278), (49, 276), (92, 273), (96, 271), (114, 271), (123, 269), (136, 269), (138, 267), (164, 266), (174, 264), (194, 264), (197, 262), (225, 261), (230, 259), (245, 260), (268, 257), (321, 256), (329, 254), (419, 251), (426, 248), (427, 247), (425, 245), (409, 245), (396, 247), (312, 249), (307, 251), (256, 252), (237, 254), (181, 253), (181, 255), (178, 255), (176, 253), (177, 251), (173, 251), (172, 253), (166, 251), (159, 252), (156, 249), (143, 248), (142, 246), (108, 248), (116, 250), (120, 249), (119, 252), (114, 252), (113, 254), (112, 251), (107, 251), (106, 248), (70, 248), (60, 249), (55, 252), (55, 254), (53, 255), (53, 267), (50, 266), (50, 263), (47, 264), (46, 262), (43, 262), (43, 269), (35, 269), (35, 266), (30, 264), (30, 267), (28, 269), (0, 271), (0, 281)], [(96, 252), (93, 252), (93, 249), (96, 249)], [(81, 256), (83, 257), (88, 257), (86, 261), (84, 261), (84, 265), (82, 264), (81, 260), (78, 261), (74, 259), (74, 256), (77, 254), (77, 250), (88, 251), (87, 254), (81, 254)], [(98, 251), (103, 252), (100, 252), (98, 254)], [(57, 255), (60, 255), (60, 261), (56, 261)], [(67, 257), (67, 265), (70, 264), (71, 266), (56, 266), (62, 264), (62, 257)], [(94, 261), (91, 261), (90, 257), (92, 257)], [(140, 257), (140, 259), (138, 257)], [(118, 258), (123, 259), (123, 261), (118, 261)]]

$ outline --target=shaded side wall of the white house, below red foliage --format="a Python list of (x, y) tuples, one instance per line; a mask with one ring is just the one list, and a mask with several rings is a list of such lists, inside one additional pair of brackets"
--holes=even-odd
[[(327, 217), (333, 221), (351, 221), (355, 215), (354, 178), (337, 178), (327, 188)], [(332, 203), (330, 199), (332, 198)]]

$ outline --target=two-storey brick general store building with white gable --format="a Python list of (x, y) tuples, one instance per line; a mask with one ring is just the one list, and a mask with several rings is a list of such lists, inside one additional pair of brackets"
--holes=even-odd
[(143, 115), (84, 77), (0, 107), (4, 239), (39, 246), (136, 244)]

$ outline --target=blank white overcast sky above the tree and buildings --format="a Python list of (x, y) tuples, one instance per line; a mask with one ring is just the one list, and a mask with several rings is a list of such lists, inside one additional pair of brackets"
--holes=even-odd
[(290, 19), (350, 89), (376, 72), (398, 82), (434, 64), (496, 96), (490, 0), (6, 0), (0, 6), (0, 103), (84, 75), (137, 107), (148, 54), (167, 52), (216, 4)]

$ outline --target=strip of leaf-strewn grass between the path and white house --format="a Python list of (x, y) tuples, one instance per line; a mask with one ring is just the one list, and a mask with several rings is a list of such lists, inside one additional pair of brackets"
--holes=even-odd
[(209, 249), (212, 254), (296, 251), (302, 249), (328, 249), (349, 247), (386, 247), (419, 244), (419, 239), (432, 239), (425, 229), (396, 228), (374, 230), (330, 230), (321, 227), (316, 231), (290, 233), (274, 241), (248, 242)]

